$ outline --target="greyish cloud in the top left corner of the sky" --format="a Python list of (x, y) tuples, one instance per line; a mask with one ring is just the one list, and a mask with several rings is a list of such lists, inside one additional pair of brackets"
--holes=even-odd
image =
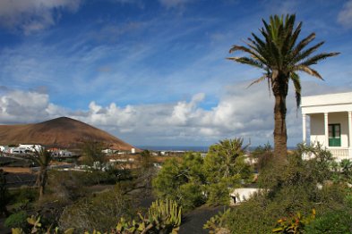
[(3, 0), (0, 2), (0, 24), (25, 34), (47, 29), (60, 18), (57, 10), (74, 12), (81, 0)]

